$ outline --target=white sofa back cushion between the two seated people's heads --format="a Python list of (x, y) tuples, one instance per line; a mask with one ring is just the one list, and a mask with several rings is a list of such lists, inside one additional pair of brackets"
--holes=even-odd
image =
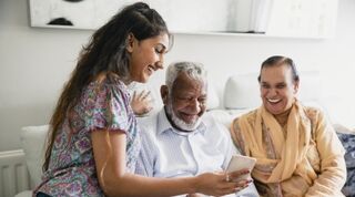
[(230, 76), (224, 90), (224, 107), (254, 108), (261, 105), (257, 73)]

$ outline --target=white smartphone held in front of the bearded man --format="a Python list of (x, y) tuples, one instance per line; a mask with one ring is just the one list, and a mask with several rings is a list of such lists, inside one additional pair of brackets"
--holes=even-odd
[[(256, 163), (256, 158), (243, 156), (243, 155), (233, 155), (226, 168), (226, 173), (241, 170), (244, 168), (247, 168), (250, 172), (252, 172), (255, 166), (255, 163)], [(248, 173), (248, 174), (239, 176), (237, 178), (233, 179), (233, 182), (239, 182), (242, 179), (251, 179), (251, 178), (252, 178), (251, 174)]]

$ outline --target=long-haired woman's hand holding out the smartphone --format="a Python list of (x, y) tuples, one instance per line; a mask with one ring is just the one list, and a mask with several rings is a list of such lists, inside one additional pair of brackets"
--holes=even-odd
[(196, 176), (196, 191), (211, 196), (224, 196), (240, 191), (248, 186), (252, 180), (243, 179), (232, 182), (241, 175), (250, 173), (247, 169), (241, 169), (232, 173), (204, 173)]

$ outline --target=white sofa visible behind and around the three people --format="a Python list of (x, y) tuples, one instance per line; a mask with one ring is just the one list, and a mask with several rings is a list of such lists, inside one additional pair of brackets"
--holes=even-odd
[[(231, 76), (226, 82), (225, 90), (223, 91), (224, 94), (222, 96), (217, 95), (217, 91), (214, 90), (213, 85), (209, 85), (207, 113), (229, 127), (233, 118), (258, 106), (261, 101), (258, 98), (256, 76), (256, 73)], [(318, 77), (317, 72), (306, 72), (301, 74), (300, 97), (302, 101), (305, 101), (304, 103), (306, 104), (322, 107), (322, 102), (318, 100)], [(162, 106), (158, 87), (159, 85), (156, 85), (155, 90), (152, 90), (155, 100), (155, 110), (159, 110)], [(136, 86), (135, 89), (145, 87)], [(220, 101), (220, 97), (222, 97), (223, 101)], [(342, 131), (352, 132), (349, 129)], [(43, 163), (44, 149), (43, 145), (47, 132), (48, 125), (28, 126), (22, 128), (21, 142), (26, 154), (32, 188), (38, 185), (41, 179), (41, 166)], [(27, 196), (31, 196), (30, 190), (20, 193), (16, 197)]]

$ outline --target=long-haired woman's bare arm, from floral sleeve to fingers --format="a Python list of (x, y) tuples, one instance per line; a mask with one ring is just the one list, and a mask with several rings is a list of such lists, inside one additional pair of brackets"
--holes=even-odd
[[(235, 193), (240, 186), (226, 182), (226, 175), (222, 173), (185, 178), (152, 178), (126, 173), (126, 136), (123, 132), (94, 131), (91, 138), (99, 183), (108, 196), (156, 197), (194, 193), (223, 196)], [(231, 173), (229, 176), (237, 177), (240, 173)]]

